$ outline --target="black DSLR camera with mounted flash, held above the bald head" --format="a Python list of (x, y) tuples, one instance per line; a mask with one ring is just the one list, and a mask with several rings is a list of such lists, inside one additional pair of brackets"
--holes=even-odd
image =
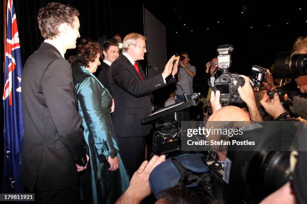
[[(239, 85), (244, 85), (244, 79), (238, 74), (230, 73), (228, 71), (231, 66), (231, 54), (233, 53), (233, 50), (233, 46), (229, 44), (217, 47), (217, 67), (218, 70), (221, 71), (221, 74), (214, 79), (213, 83), (211, 83), (210, 79), (208, 80), (209, 86), (214, 91), (219, 90), (221, 92), (220, 102), (222, 106), (243, 103), (237, 88)], [(233, 83), (234, 80), (238, 81), (236, 86)]]

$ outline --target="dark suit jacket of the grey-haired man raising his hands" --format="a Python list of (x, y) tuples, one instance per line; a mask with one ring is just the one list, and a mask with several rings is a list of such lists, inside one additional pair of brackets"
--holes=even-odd
[[(151, 113), (149, 92), (168, 84), (164, 83), (162, 74), (148, 78), (142, 69), (140, 73), (144, 80), (141, 80), (123, 54), (110, 66), (108, 75), (115, 103), (112, 121), (119, 137), (144, 136), (149, 133), (151, 125), (141, 124), (141, 119)], [(171, 77), (173, 80), (175, 78)]]

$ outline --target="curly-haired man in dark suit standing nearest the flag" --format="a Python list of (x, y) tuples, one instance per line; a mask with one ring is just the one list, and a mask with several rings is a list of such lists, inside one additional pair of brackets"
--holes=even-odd
[(22, 177), (38, 203), (78, 202), (78, 171), (87, 164), (72, 69), (64, 58), (80, 37), (78, 15), (76, 8), (60, 3), (41, 8), (38, 22), (45, 41), (23, 69)]

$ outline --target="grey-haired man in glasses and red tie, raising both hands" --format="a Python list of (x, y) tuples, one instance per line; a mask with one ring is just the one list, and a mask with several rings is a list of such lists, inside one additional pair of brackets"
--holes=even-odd
[(129, 33), (123, 40), (123, 53), (113, 61), (109, 70), (109, 82), (115, 102), (112, 121), (120, 155), (130, 176), (143, 160), (145, 136), (150, 124), (141, 124), (141, 118), (149, 115), (149, 92), (165, 86), (166, 78), (172, 73), (175, 81), (178, 60), (173, 67), (175, 56), (168, 61), (164, 71), (147, 78), (135, 63), (144, 59), (146, 52), (145, 37), (138, 33)]

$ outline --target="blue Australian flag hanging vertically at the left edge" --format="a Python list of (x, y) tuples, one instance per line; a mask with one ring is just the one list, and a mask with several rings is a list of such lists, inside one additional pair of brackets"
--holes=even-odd
[(22, 113), (22, 57), (19, 43), (16, 13), (13, 0), (8, 0), (8, 29), (6, 40), (6, 63), (4, 73), (4, 179), (3, 192), (21, 193), (21, 161), (24, 138)]

